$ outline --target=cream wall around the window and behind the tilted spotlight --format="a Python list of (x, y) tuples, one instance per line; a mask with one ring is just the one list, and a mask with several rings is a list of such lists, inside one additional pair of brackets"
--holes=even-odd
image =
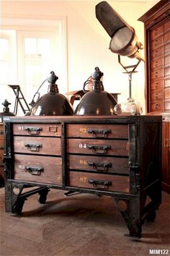
[[(84, 81), (99, 67), (104, 72), (104, 89), (109, 93), (121, 93), (118, 100), (128, 98), (128, 74), (117, 62), (117, 55), (109, 51), (109, 35), (95, 17), (95, 5), (99, 1), (1, 1), (1, 20), (6, 17), (55, 19), (66, 17), (68, 90), (81, 90)], [(108, 1), (108, 3), (135, 28), (143, 43), (143, 23), (138, 21), (156, 1)], [(144, 56), (144, 54), (143, 54)], [(125, 58), (125, 64), (136, 60)], [(132, 94), (140, 101), (145, 112), (144, 63), (133, 74)], [(57, 72), (57, 71), (56, 71)], [(59, 88), (60, 89), (60, 88)]]

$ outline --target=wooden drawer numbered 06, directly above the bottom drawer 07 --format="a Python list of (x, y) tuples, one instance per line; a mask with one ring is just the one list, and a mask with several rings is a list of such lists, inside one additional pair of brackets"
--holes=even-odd
[(68, 155), (68, 168), (74, 170), (129, 174), (128, 162), (129, 158)]

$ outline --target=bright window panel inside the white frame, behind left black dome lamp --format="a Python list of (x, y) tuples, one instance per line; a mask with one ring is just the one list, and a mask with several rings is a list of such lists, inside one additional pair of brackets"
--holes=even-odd
[[(41, 31), (18, 32), (18, 74), (19, 84), (27, 102), (30, 103), (33, 95), (42, 82), (48, 77), (50, 71), (58, 72), (55, 59), (55, 33)], [(56, 56), (56, 58), (54, 57)], [(59, 76), (59, 74), (57, 74)], [(48, 82), (40, 89), (40, 94), (48, 93)]]

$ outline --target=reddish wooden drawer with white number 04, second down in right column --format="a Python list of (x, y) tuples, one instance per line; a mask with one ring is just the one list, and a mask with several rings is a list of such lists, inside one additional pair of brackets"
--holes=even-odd
[(68, 139), (67, 142), (68, 153), (122, 156), (129, 154), (127, 140)]

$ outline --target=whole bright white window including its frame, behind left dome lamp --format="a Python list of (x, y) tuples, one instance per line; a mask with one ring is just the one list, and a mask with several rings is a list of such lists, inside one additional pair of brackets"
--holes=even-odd
[[(66, 93), (65, 19), (6, 19), (6, 23), (8, 25), (2, 26), (0, 35), (0, 90), (3, 91), (0, 104), (7, 98), (12, 103), (10, 110), (14, 110), (15, 95), (7, 86), (9, 84), (19, 85), (27, 103), (30, 103), (52, 70), (59, 77), (60, 93)], [(44, 93), (48, 93), (48, 82), (40, 89), (40, 95)]]

